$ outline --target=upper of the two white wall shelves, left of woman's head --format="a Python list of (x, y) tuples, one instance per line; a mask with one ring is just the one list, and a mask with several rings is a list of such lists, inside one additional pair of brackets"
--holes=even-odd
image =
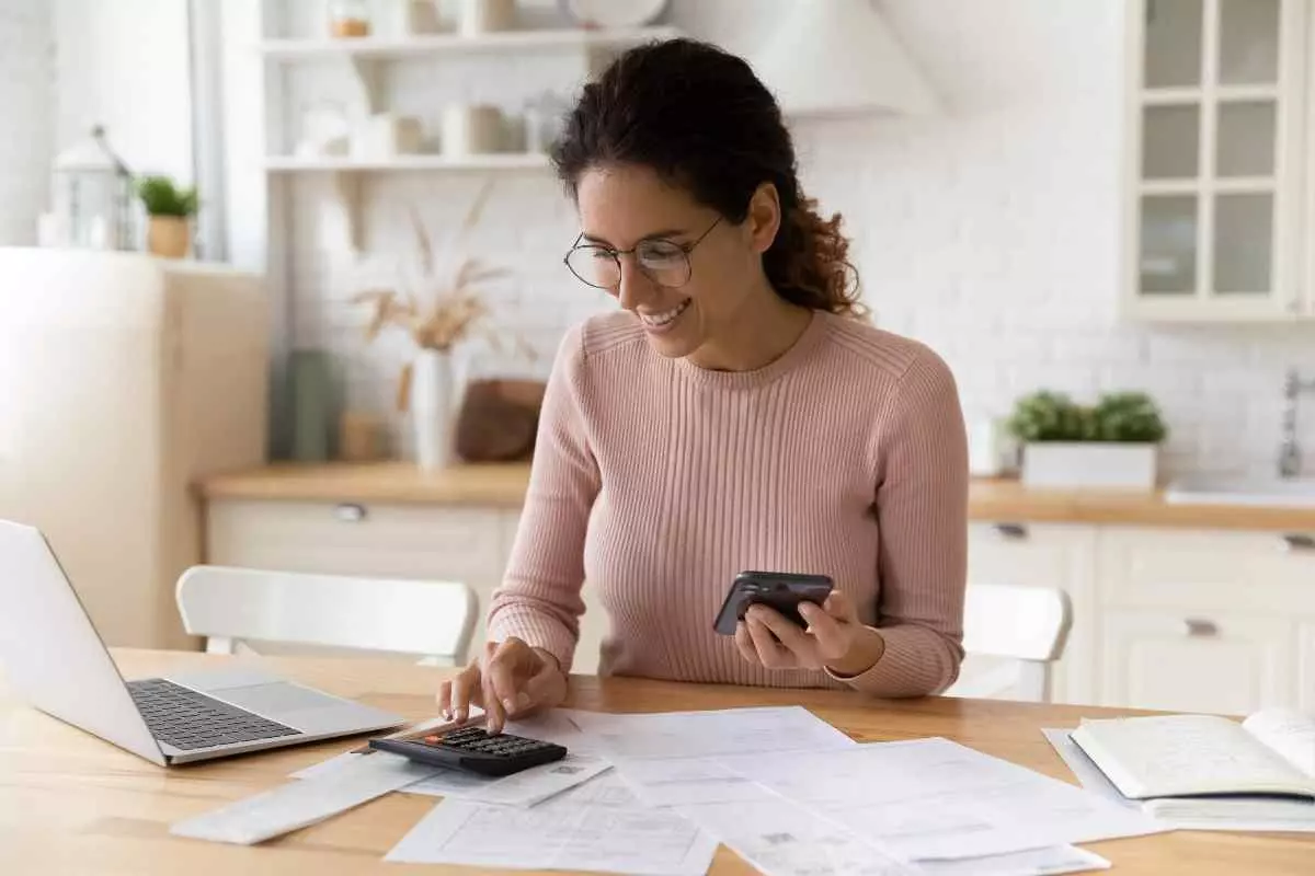
[(433, 34), (418, 37), (343, 37), (341, 39), (268, 39), (262, 54), (276, 60), (314, 58), (412, 58), (444, 54), (597, 49), (671, 39), (676, 28), (617, 28), (609, 30), (504, 30), (480, 37)]

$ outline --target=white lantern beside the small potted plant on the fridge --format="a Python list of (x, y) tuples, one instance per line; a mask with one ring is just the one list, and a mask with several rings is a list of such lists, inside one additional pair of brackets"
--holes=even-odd
[(55, 158), (53, 198), (68, 246), (137, 250), (133, 175), (100, 125)]

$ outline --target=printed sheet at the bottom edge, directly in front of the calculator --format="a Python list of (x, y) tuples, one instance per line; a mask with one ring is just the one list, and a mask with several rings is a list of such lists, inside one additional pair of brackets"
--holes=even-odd
[(533, 809), (444, 800), (385, 860), (638, 876), (704, 876), (717, 841), (669, 810), (640, 806), (606, 772)]

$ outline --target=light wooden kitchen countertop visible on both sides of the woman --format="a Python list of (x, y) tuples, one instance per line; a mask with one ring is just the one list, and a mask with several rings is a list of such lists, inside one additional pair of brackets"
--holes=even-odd
[[(518, 508), (526, 464), (459, 465), (426, 473), (410, 462), (276, 464), (209, 478), (206, 499), (400, 502)], [(1315, 508), (1170, 504), (1161, 493), (1030, 490), (1010, 479), (974, 479), (969, 516), (992, 523), (1085, 523), (1197, 529), (1315, 532)]]

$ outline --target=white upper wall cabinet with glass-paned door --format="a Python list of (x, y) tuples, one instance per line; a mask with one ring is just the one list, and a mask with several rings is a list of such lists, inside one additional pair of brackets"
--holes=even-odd
[[(1306, 127), (1310, 0), (1132, 0), (1123, 310), (1141, 320), (1315, 315)], [(1303, 225), (1304, 223), (1304, 225)]]

